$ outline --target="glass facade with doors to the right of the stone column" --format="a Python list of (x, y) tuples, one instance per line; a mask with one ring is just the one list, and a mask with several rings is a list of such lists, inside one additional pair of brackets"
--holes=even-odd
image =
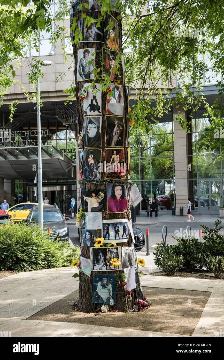
[[(209, 118), (188, 119), (188, 185), (193, 210), (199, 213), (219, 213), (223, 205), (223, 166), (218, 145), (211, 153), (198, 153), (197, 144), (203, 138)], [(206, 180), (205, 180), (206, 179)], [(200, 199), (200, 201), (199, 201)]]

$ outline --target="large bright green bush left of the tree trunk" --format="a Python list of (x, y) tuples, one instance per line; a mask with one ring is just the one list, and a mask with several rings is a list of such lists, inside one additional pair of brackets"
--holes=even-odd
[(79, 248), (49, 239), (38, 225), (8, 223), (0, 226), (0, 270), (29, 271), (69, 266), (79, 257)]

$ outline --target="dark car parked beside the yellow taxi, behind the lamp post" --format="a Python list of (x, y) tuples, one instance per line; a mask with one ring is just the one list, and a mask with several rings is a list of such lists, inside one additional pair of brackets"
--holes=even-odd
[[(56, 240), (60, 238), (61, 241), (69, 240), (69, 228), (66, 224), (66, 220), (69, 217), (63, 217), (61, 211), (56, 204), (43, 206), (43, 227), (44, 231), (50, 229), (50, 238)], [(38, 224), (39, 211), (38, 205), (33, 205), (32, 209), (27, 216), (27, 225), (32, 226)]]

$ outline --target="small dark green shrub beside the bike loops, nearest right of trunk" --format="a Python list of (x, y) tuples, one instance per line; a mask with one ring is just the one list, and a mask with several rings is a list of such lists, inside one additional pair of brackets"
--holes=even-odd
[(164, 243), (155, 247), (154, 262), (155, 265), (169, 276), (173, 275), (182, 268), (183, 256), (177, 256), (174, 251), (175, 245), (165, 246)]

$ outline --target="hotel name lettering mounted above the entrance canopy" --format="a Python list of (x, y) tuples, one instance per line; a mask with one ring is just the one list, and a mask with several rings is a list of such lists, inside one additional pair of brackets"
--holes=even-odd
[[(48, 129), (41, 130), (41, 138), (47, 138)], [(0, 147), (35, 146), (37, 130), (11, 131), (11, 129), (0, 129)]]

